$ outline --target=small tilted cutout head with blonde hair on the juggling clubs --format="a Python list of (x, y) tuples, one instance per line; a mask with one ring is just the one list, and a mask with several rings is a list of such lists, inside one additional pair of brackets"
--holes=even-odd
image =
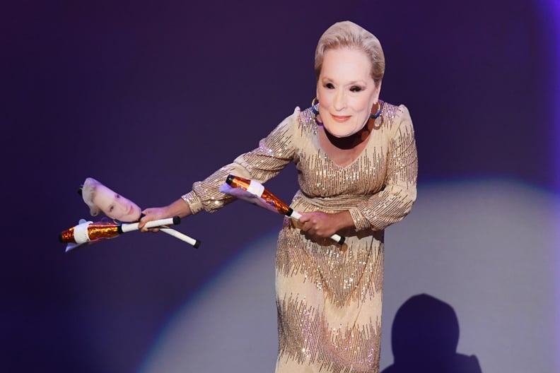
[(83, 182), (81, 195), (83, 201), (89, 206), (92, 216), (97, 216), (102, 212), (107, 217), (124, 223), (135, 222), (140, 218), (141, 210), (136, 203), (91, 177)]

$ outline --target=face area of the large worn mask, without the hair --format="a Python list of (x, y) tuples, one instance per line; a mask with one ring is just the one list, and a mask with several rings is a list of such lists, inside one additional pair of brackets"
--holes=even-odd
[(319, 115), (325, 129), (346, 137), (362, 129), (380, 86), (371, 77), (371, 61), (358, 49), (328, 49), (317, 80)]

